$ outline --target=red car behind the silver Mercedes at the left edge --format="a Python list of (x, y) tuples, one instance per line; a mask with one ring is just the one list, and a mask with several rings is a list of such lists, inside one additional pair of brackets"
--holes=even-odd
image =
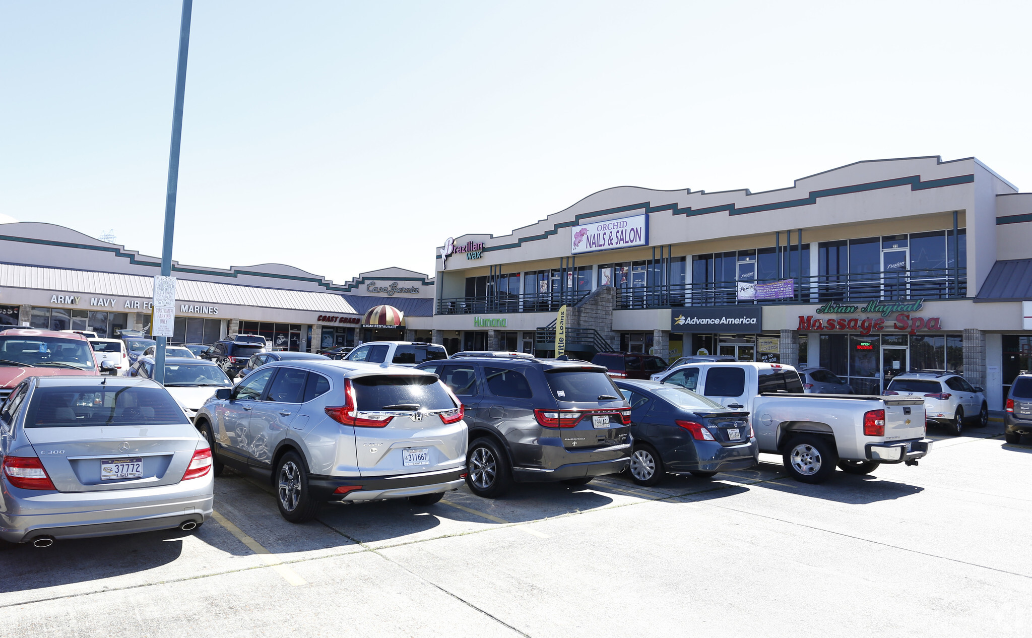
[(100, 376), (93, 348), (82, 334), (29, 328), (0, 331), (0, 404), (28, 377), (69, 375)]

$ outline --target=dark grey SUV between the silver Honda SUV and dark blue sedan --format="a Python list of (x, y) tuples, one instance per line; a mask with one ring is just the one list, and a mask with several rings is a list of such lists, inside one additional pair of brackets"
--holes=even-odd
[(584, 485), (631, 460), (631, 406), (585, 361), (466, 356), (425, 361), (465, 407), (466, 484), (496, 498), (513, 482)]

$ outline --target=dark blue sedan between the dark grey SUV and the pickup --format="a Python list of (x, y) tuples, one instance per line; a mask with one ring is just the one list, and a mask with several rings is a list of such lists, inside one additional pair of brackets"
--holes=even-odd
[(708, 478), (760, 461), (749, 413), (658, 381), (616, 380), (631, 404), (631, 478), (655, 485), (665, 473)]

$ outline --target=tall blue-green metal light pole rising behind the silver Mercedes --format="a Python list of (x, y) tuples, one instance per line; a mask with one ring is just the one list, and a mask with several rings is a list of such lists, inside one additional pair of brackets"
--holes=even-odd
[[(175, 99), (172, 105), (172, 142), (168, 152), (168, 188), (165, 195), (165, 234), (161, 243), (161, 275), (172, 274), (172, 234), (175, 232), (175, 192), (180, 183), (180, 140), (183, 137), (183, 100), (187, 90), (187, 54), (190, 50), (190, 15), (193, 0), (183, 0), (180, 22), (180, 58), (175, 63)], [(166, 337), (158, 337), (154, 357), (154, 380), (165, 382)]]

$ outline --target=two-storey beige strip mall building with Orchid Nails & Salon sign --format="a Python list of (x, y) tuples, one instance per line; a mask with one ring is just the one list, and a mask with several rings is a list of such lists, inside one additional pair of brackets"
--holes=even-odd
[[(438, 249), (433, 341), (455, 349), (732, 355), (858, 391), (956, 370), (993, 409), (1032, 370), (1032, 193), (974, 158), (864, 161), (791, 188), (612, 188)], [(1027, 309), (1028, 308), (1028, 309)]]

